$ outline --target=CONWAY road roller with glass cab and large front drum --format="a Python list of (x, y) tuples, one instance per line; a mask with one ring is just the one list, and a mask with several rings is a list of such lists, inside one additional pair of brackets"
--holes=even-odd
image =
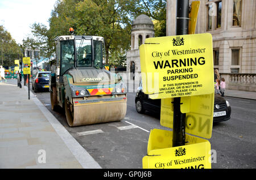
[(126, 85), (119, 74), (103, 68), (104, 38), (68, 35), (55, 38), (51, 67), (51, 108), (65, 109), (68, 125), (121, 121), (126, 115)]

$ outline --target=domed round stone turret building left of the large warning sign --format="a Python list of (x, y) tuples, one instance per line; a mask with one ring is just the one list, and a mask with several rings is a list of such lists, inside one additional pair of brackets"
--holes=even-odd
[(147, 15), (142, 14), (134, 20), (131, 28), (131, 50), (126, 54), (126, 72), (129, 72), (129, 79), (134, 79), (135, 74), (141, 74), (139, 46), (148, 37), (155, 37), (154, 24)]

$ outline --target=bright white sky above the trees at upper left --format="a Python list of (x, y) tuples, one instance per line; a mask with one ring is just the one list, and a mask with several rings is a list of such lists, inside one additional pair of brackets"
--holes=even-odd
[(16, 43), (31, 35), (31, 25), (42, 23), (49, 27), (48, 19), (56, 0), (0, 0), (0, 25), (11, 33)]

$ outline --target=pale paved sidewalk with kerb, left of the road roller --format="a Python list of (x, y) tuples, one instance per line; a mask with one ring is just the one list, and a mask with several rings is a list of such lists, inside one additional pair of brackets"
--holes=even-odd
[(101, 168), (38, 98), (28, 100), (27, 87), (8, 81), (0, 83), (0, 168)]

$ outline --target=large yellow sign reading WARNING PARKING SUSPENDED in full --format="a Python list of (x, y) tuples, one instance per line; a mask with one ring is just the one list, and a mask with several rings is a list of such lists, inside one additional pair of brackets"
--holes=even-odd
[(210, 33), (147, 38), (139, 53), (143, 91), (150, 98), (214, 92)]

